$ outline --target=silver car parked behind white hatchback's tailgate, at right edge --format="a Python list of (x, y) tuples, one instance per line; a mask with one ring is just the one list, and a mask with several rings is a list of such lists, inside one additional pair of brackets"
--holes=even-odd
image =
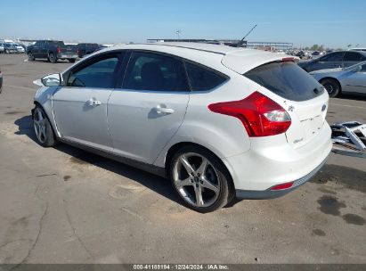
[(310, 72), (330, 97), (341, 93), (366, 94), (366, 62), (360, 62), (347, 68), (315, 70)]

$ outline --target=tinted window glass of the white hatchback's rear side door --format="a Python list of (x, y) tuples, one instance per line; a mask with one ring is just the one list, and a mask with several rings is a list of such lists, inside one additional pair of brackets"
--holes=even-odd
[(158, 53), (135, 52), (123, 88), (151, 91), (188, 91), (183, 62)]

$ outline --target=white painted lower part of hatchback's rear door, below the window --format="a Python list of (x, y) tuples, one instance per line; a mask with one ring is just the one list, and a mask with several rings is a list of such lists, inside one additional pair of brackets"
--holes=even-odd
[(108, 121), (116, 154), (152, 163), (182, 124), (188, 100), (188, 93), (113, 91)]

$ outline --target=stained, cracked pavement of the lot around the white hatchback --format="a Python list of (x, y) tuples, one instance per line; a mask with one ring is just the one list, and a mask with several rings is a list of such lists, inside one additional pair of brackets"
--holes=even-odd
[[(0, 54), (0, 263), (366, 263), (366, 160), (331, 154), (293, 193), (215, 213), (169, 182), (35, 141), (32, 81), (69, 62)], [(366, 123), (366, 99), (331, 99), (329, 123)]]

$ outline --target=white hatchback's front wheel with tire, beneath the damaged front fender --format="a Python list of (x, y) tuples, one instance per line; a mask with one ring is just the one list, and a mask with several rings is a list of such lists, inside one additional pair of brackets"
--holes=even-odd
[(39, 105), (33, 111), (33, 127), (35, 129), (37, 142), (45, 148), (56, 144), (56, 138), (53, 134), (53, 127), (47, 118), (45, 111)]

